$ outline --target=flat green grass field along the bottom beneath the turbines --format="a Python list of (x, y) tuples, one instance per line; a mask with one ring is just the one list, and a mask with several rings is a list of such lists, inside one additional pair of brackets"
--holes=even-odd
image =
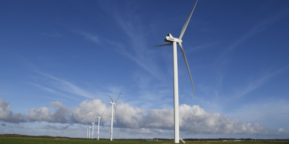
[[(26, 137), (0, 137), (0, 143), (6, 144), (6, 143), (42, 143), (42, 144), (85, 144), (85, 143), (103, 143), (103, 144), (124, 144), (124, 143), (131, 143), (131, 144), (169, 144), (174, 143), (173, 141), (129, 141), (129, 140), (84, 140), (84, 139), (53, 139), (53, 138), (26, 138)], [(181, 142), (182, 143), (182, 142)], [(200, 143), (200, 144), (231, 144), (231, 143), (238, 143), (238, 144), (289, 144), (289, 141), (186, 141), (186, 143)]]

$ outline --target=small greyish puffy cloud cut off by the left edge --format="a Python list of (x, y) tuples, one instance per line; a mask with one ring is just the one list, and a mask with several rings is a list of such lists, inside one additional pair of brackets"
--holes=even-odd
[(0, 98), (0, 120), (8, 122), (23, 122), (24, 115), (22, 113), (13, 113), (10, 110), (10, 104)]

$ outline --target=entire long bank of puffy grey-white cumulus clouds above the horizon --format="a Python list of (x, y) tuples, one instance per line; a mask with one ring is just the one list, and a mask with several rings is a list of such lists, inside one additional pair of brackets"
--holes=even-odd
[[(210, 113), (199, 105), (180, 105), (180, 130), (188, 133), (226, 133), (226, 134), (253, 134), (265, 131), (258, 123), (241, 122), (239, 119), (230, 119), (220, 113)], [(82, 123), (89, 124), (98, 120), (98, 113), (104, 114), (101, 123), (110, 126), (111, 105), (102, 103), (100, 99), (84, 100), (78, 107), (69, 109), (60, 101), (50, 102), (47, 106), (31, 108), (28, 115), (14, 114), (10, 111), (8, 102), (0, 99), (0, 120), (8, 122), (47, 121), (52, 123)], [(116, 104), (114, 127), (130, 131), (141, 129), (142, 132), (171, 130), (174, 127), (173, 109), (144, 110), (132, 107), (127, 103)], [(116, 118), (115, 118), (116, 116)], [(280, 128), (278, 132), (288, 132)]]

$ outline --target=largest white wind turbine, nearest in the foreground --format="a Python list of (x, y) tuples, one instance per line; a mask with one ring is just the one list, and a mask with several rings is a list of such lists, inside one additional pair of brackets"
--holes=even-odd
[(197, 1), (195, 2), (195, 5), (187, 19), (187, 21), (185, 22), (182, 30), (181, 30), (181, 33), (180, 33), (180, 37), (179, 38), (175, 38), (172, 36), (171, 33), (169, 33), (166, 38), (164, 39), (165, 41), (167, 41), (168, 43), (164, 43), (164, 44), (160, 44), (160, 45), (155, 45), (155, 46), (163, 46), (163, 45), (173, 45), (173, 57), (174, 57), (174, 130), (175, 130), (175, 143), (179, 143), (180, 142), (180, 133), (179, 133), (179, 85), (178, 85), (178, 59), (177, 59), (177, 43), (179, 43), (179, 46), (180, 46), (180, 49), (183, 53), (183, 56), (184, 56), (184, 59), (185, 59), (185, 62), (186, 62), (186, 65), (187, 65), (187, 68), (188, 68), (188, 71), (189, 71), (189, 75), (190, 75), (190, 78), (191, 78), (191, 83), (192, 83), (192, 86), (193, 86), (193, 91), (194, 91), (194, 95), (195, 95), (195, 89), (194, 89), (194, 84), (193, 84), (193, 80), (192, 80), (192, 75), (191, 75), (191, 72), (190, 72), (190, 68), (189, 68), (189, 64), (188, 64), (188, 61), (187, 61), (187, 57), (186, 57), (186, 54), (185, 54), (185, 51), (184, 51), (184, 48), (182, 46), (182, 38), (183, 38), (183, 35), (185, 33), (185, 30), (188, 26), (188, 23), (190, 21), (190, 18), (193, 14), (193, 11), (196, 7), (196, 4), (197, 4)]

